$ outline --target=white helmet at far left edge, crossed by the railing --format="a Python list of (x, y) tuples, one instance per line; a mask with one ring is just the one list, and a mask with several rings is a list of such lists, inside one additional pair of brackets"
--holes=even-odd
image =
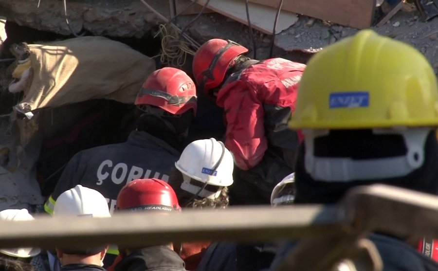
[[(26, 209), (8, 209), (0, 212), (0, 221), (30, 221), (34, 219)], [(0, 253), (19, 258), (34, 257), (40, 252), (41, 250), (38, 248), (0, 249)]]

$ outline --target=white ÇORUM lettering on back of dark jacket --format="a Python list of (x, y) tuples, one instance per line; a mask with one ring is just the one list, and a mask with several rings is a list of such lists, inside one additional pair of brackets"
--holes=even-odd
[(97, 185), (102, 185), (103, 181), (109, 179), (115, 184), (121, 184), (123, 182), (129, 183), (136, 179), (157, 178), (165, 182), (169, 181), (169, 176), (155, 172), (153, 177), (150, 177), (152, 170), (133, 165), (128, 168), (126, 163), (118, 163), (113, 166), (111, 160), (103, 161), (97, 168)]

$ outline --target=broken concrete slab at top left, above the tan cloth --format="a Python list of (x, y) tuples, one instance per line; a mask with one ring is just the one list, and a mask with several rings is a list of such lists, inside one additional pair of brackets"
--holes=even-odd
[[(168, 17), (168, 5), (161, 0), (148, 0)], [(22, 26), (71, 36), (65, 21), (63, 1), (1, 0), (0, 16)], [(160, 23), (155, 14), (139, 0), (69, 0), (67, 14), (70, 26), (77, 34), (87, 31), (92, 35), (114, 37), (142, 37)]]

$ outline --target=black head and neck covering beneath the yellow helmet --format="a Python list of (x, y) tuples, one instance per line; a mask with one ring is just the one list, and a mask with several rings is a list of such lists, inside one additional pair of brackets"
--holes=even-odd
[[(401, 153), (405, 153), (406, 151), (402, 148), (397, 138), (388, 140), (389, 138), (376, 136), (373, 139), (365, 132), (362, 135), (356, 134), (357, 137), (349, 137), (350, 139), (348, 140), (347, 137), (344, 136), (345, 134), (342, 134), (343, 133), (341, 132), (339, 132), (337, 135), (334, 133), (331, 134), (329, 138), (321, 139), (321, 141), (325, 141), (324, 144), (318, 144), (315, 142), (314, 152), (324, 157), (341, 157), (348, 153), (348, 157), (354, 157), (356, 159), (370, 159), (382, 157), (382, 147), (384, 149), (384, 153), (386, 153), (385, 157), (401, 155)], [(387, 136), (391, 137), (392, 135)], [(353, 145), (350, 145), (348, 141), (353, 142), (353, 140), (355, 144), (351, 143)], [(382, 144), (382, 142), (386, 143)], [(365, 145), (368, 150), (364, 151), (364, 148), (360, 145)], [(379, 148), (376, 146), (381, 147)], [(372, 152), (370, 149), (375, 149), (376, 152)], [(438, 144), (435, 130), (431, 130), (427, 136), (426, 143), (424, 145), (425, 158), (423, 165), (410, 174), (400, 178), (361, 181), (351, 180), (348, 182), (336, 180), (314, 180), (305, 169), (305, 153), (305, 146), (304, 143), (302, 143), (298, 151), (295, 171), (295, 203), (335, 203), (344, 196), (349, 188), (353, 186), (370, 185), (374, 183), (394, 185), (434, 195), (438, 194)]]

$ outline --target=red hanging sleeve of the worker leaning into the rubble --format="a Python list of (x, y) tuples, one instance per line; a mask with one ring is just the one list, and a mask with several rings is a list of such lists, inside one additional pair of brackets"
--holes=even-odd
[(268, 148), (264, 130), (264, 109), (253, 90), (235, 84), (227, 91), (223, 107), (227, 121), (225, 146), (236, 165), (248, 170), (256, 166)]

